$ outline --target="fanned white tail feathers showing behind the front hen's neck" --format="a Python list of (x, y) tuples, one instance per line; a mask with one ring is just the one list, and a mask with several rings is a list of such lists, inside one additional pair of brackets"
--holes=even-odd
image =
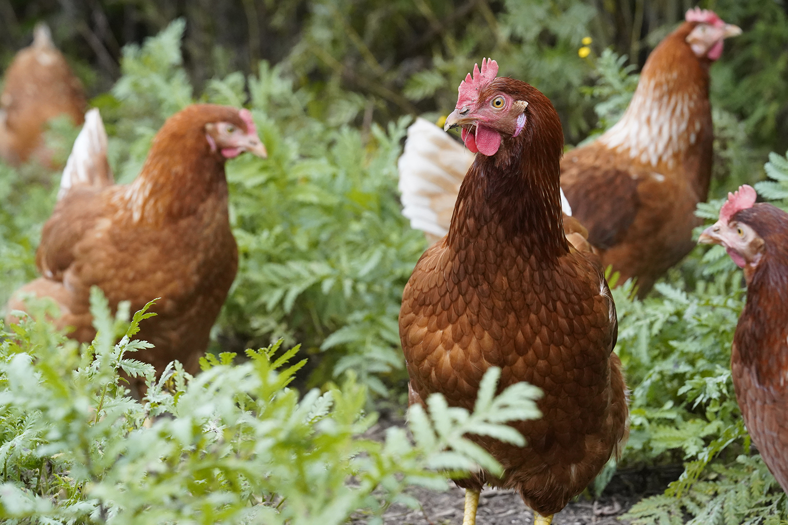
[[(417, 118), (407, 128), (405, 150), (397, 163), (403, 216), (411, 227), (437, 238), (448, 233), (454, 203), (474, 153), (428, 120)], [(571, 216), (561, 190), (561, 209)]]

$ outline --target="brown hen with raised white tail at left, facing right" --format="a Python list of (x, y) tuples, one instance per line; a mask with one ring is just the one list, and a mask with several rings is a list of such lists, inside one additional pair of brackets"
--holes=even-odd
[(133, 312), (161, 298), (151, 309), (158, 315), (143, 321), (138, 335), (155, 348), (135, 357), (159, 373), (174, 359), (197, 372), (238, 266), (225, 161), (244, 151), (266, 157), (247, 109), (191, 105), (158, 131), (136, 180), (113, 185), (106, 134), (91, 110), (43, 228), (36, 253), (42, 276), (17, 290), (8, 309), (24, 310), (25, 293), (53, 298), (58, 327), (89, 342), (92, 286), (112, 309), (128, 300)]

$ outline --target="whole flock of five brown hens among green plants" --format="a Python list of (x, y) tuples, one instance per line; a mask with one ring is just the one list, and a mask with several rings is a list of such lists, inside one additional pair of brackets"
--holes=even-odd
[[(628, 429), (627, 390), (613, 352), (618, 320), (604, 268), (646, 294), (693, 248), (693, 212), (712, 172), (708, 68), (723, 40), (741, 33), (716, 13), (690, 9), (653, 50), (623, 117), (589, 144), (563, 153), (552, 103), (483, 60), (459, 85), (444, 130), (418, 119), (400, 158), (403, 214), (433, 242), (403, 292), (400, 338), (411, 404), (439, 392), (472, 409), (482, 375), (501, 369), (500, 388), (527, 381), (544, 395), (540, 420), (513, 423), (525, 447), (470, 436), (505, 468), (457, 480), (464, 525), (475, 521), (485, 484), (515, 489), (534, 523), (551, 523), (582, 492)], [(41, 138), (62, 113), (83, 122), (79, 81), (49, 31), (35, 30), (6, 72), (0, 155), (12, 165), (49, 164)], [(199, 371), (211, 325), (236, 275), (225, 161), (266, 157), (247, 109), (191, 105), (155, 136), (136, 180), (113, 183), (106, 132), (87, 111), (43, 228), (41, 277), (6, 305), (15, 322), (31, 296), (52, 298), (58, 327), (80, 342), (95, 336), (93, 286), (113, 308), (160, 298), (139, 338), (158, 372), (171, 360)], [(562, 158), (563, 157), (563, 158)], [(788, 215), (757, 203), (743, 186), (700, 242), (724, 246), (744, 269), (749, 293), (731, 355), (745, 423), (766, 464), (788, 489), (788, 326), (774, 305), (788, 294)]]

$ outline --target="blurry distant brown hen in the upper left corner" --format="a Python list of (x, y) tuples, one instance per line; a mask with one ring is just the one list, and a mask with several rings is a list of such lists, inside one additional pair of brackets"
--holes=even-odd
[(51, 153), (41, 135), (44, 124), (59, 115), (82, 124), (85, 105), (82, 83), (52, 43), (49, 28), (35, 26), (32, 45), (20, 50), (6, 70), (0, 95), (0, 157), (11, 165), (30, 157), (50, 165)]

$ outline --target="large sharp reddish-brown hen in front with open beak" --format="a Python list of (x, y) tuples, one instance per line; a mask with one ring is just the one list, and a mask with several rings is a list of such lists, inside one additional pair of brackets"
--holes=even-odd
[(550, 523), (622, 445), (626, 394), (613, 353), (618, 323), (602, 268), (563, 235), (561, 123), (527, 83), (482, 61), (460, 84), (447, 128), (479, 153), (459, 190), (448, 235), (422, 255), (403, 293), (400, 339), (411, 403), (440, 392), (472, 409), (487, 368), (501, 387), (544, 391), (541, 420), (514, 427), (524, 448), (473, 438), (506, 469), (466, 488), (474, 523), (485, 482), (518, 490), (536, 523)]

